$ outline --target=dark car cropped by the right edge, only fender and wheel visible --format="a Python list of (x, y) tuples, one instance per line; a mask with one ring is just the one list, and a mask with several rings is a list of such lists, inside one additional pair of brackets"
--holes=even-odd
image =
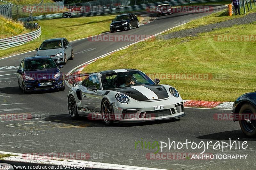
[(245, 135), (256, 137), (256, 92), (238, 97), (234, 102), (232, 114), (234, 121), (239, 121)]

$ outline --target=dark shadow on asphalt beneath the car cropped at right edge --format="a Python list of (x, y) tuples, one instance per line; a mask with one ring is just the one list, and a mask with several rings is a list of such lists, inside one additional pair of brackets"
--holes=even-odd
[(256, 141), (256, 138), (248, 138), (242, 130), (231, 130), (231, 131), (225, 131), (225, 132), (219, 132), (219, 133), (212, 133), (209, 135), (203, 135), (196, 137), (198, 139), (208, 139), (208, 140), (237, 140), (238, 138), (240, 140), (245, 141)]

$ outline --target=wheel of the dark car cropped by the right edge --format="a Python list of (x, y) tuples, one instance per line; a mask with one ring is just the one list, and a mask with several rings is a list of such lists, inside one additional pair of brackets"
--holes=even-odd
[[(244, 104), (239, 111), (239, 117), (242, 114), (256, 114), (256, 108), (251, 104)], [(249, 116), (250, 117), (250, 116)], [(249, 137), (256, 136), (256, 120), (239, 120), (239, 125), (245, 135)]]

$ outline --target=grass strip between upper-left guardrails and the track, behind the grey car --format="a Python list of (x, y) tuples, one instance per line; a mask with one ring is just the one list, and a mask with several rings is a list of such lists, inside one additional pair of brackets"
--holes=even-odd
[(38, 48), (46, 39), (65, 37), (68, 41), (85, 38), (92, 35), (109, 31), (110, 22), (116, 15), (81, 17), (81, 18), (59, 18), (39, 20), (42, 35), (40, 38), (24, 45), (0, 50), (0, 57), (19, 54)]

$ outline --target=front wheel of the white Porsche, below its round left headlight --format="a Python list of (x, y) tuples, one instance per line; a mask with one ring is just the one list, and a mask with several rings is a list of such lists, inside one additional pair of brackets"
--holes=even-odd
[(111, 125), (113, 123), (114, 114), (112, 110), (113, 109), (109, 101), (107, 99), (103, 100), (101, 105), (101, 115), (102, 115), (103, 122), (106, 125)]

